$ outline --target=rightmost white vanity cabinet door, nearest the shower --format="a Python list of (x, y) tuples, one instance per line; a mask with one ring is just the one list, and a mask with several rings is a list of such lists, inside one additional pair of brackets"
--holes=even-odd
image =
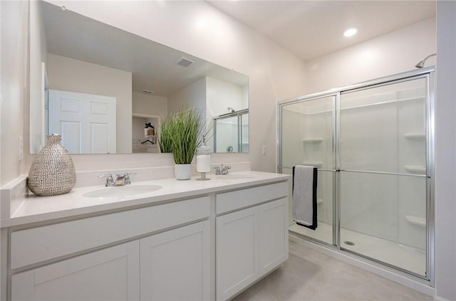
[(288, 201), (286, 198), (259, 208), (260, 277), (288, 259)]

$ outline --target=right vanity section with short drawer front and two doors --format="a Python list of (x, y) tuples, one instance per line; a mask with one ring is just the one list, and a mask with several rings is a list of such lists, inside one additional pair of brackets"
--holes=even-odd
[(216, 195), (217, 300), (236, 295), (288, 259), (287, 192), (281, 182)]

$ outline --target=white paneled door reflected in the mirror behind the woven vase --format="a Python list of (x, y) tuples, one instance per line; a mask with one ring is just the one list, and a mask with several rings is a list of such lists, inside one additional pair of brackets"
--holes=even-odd
[(48, 134), (71, 154), (115, 154), (115, 107), (115, 97), (49, 90)]

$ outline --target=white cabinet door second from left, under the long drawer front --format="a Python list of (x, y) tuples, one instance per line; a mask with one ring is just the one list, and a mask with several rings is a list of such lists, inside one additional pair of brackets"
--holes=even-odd
[(209, 300), (209, 221), (140, 240), (141, 300)]

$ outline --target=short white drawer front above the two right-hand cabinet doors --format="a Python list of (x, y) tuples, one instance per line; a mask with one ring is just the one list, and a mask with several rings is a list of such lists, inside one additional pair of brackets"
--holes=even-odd
[(215, 195), (215, 213), (221, 214), (288, 195), (288, 182), (257, 186)]

